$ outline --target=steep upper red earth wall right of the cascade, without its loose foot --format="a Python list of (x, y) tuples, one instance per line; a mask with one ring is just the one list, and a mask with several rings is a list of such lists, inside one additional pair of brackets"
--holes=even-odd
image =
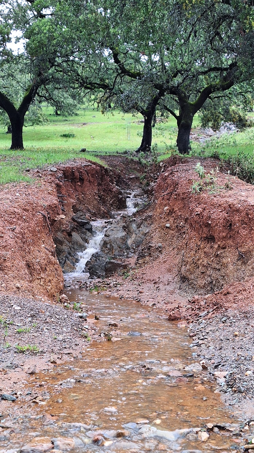
[[(179, 289), (209, 294), (253, 275), (254, 187), (236, 178), (227, 190), (226, 175), (219, 173), (214, 193), (194, 195), (194, 166), (199, 161), (166, 165), (155, 189), (150, 236), (162, 242)], [(201, 159), (201, 164), (209, 171), (218, 162)]]

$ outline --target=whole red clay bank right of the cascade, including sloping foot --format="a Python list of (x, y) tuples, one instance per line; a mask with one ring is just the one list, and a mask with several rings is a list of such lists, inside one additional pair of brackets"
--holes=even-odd
[(166, 308), (172, 320), (253, 304), (254, 187), (236, 178), (225, 189), (226, 174), (219, 173), (215, 193), (194, 195), (197, 162), (206, 172), (218, 165), (202, 158), (163, 164), (138, 269), (114, 291)]

